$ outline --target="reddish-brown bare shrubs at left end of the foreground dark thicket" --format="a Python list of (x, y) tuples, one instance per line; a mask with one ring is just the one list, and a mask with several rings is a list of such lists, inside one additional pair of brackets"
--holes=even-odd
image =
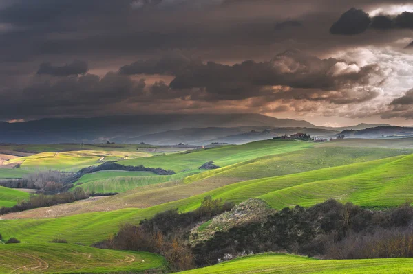
[(222, 201), (207, 196), (193, 212), (180, 214), (178, 209), (170, 209), (151, 219), (142, 220), (138, 227), (122, 225), (116, 235), (94, 244), (94, 247), (158, 253), (167, 259), (175, 271), (192, 269), (195, 265), (188, 244), (189, 231), (199, 222), (226, 212), (231, 207), (231, 203), (222, 204)]

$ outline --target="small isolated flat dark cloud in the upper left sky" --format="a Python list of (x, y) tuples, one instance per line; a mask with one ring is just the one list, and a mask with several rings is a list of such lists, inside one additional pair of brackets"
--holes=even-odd
[(51, 76), (70, 76), (85, 74), (89, 71), (87, 67), (87, 62), (83, 61), (74, 61), (71, 64), (66, 64), (61, 67), (53, 66), (50, 62), (43, 62), (37, 74), (48, 74)]

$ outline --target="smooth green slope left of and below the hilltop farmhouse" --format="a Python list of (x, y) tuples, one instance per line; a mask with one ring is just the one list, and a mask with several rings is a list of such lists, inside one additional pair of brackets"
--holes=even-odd
[(304, 141), (255, 141), (240, 146), (222, 146), (205, 150), (195, 150), (190, 153), (176, 153), (172, 155), (143, 157), (120, 161), (123, 165), (145, 165), (149, 168), (164, 168), (175, 172), (195, 170), (207, 161), (223, 167), (248, 161), (257, 157), (292, 152), (313, 147), (313, 143)]

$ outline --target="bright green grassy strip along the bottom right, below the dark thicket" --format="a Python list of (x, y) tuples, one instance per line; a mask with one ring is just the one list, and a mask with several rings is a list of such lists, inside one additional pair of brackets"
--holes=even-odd
[(368, 260), (315, 260), (295, 255), (266, 253), (247, 256), (182, 274), (249, 273), (393, 273), (413, 272), (413, 258)]

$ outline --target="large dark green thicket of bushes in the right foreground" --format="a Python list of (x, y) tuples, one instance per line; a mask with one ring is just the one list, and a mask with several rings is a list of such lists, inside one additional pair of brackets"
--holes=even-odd
[[(237, 254), (243, 251), (286, 251), (331, 259), (350, 259), (352, 244), (357, 242), (351, 237), (365, 237), (359, 241), (359, 244), (363, 244), (363, 249), (360, 246), (359, 249), (365, 251), (360, 251), (357, 258), (375, 258), (369, 257), (370, 255), (381, 258), (383, 255), (380, 254), (384, 251), (374, 253), (372, 249), (379, 245), (387, 245), (383, 247), (385, 251), (390, 247), (405, 249), (411, 241), (409, 237), (413, 237), (412, 229), (405, 229), (412, 222), (413, 209), (410, 205), (373, 212), (351, 203), (343, 205), (329, 200), (307, 209), (299, 206), (286, 207), (268, 216), (264, 222), (251, 222), (226, 231), (215, 231), (211, 238), (198, 242), (192, 251), (198, 266), (215, 264), (227, 253)], [(398, 234), (393, 229), (404, 230)], [(380, 242), (379, 235), (385, 240)], [(405, 241), (401, 241), (401, 238)], [(348, 252), (340, 255), (332, 252), (341, 249)]]

